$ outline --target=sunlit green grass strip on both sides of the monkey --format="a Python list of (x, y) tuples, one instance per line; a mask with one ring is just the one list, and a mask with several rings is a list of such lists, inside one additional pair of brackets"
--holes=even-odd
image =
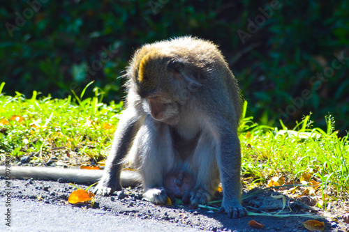
[[(3, 84), (0, 86), (2, 164), (8, 154), (13, 157), (13, 164), (24, 155), (31, 155), (31, 162), (36, 164), (57, 157), (66, 165), (98, 162), (107, 156), (122, 102), (102, 103), (103, 93), (98, 88), (94, 88), (93, 98), (83, 99), (83, 91), (75, 98), (59, 100), (38, 97), (36, 91), (32, 98), (24, 98), (21, 93), (8, 96), (1, 94), (2, 87)], [(320, 194), (328, 196), (325, 200), (348, 199), (349, 135), (337, 136), (333, 118), (324, 119), (326, 130), (313, 128), (310, 116), (287, 130), (257, 125), (245, 113), (246, 103), (239, 128), (246, 187), (265, 186), (273, 176), (299, 181), (306, 173), (320, 183)], [(24, 121), (11, 121), (12, 116), (22, 116)], [(114, 127), (107, 128), (110, 125)]]

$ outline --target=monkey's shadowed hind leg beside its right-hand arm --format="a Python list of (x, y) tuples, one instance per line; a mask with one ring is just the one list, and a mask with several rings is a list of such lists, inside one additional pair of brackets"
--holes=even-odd
[(216, 163), (214, 139), (205, 132), (200, 135), (193, 157), (189, 160), (193, 173), (197, 173), (193, 190), (183, 196), (185, 203), (190, 203), (191, 208), (211, 199), (216, 187), (221, 182)]

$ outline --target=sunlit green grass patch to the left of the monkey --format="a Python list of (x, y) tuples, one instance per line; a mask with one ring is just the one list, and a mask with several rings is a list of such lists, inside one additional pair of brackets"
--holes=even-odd
[[(98, 88), (94, 93), (93, 98), (84, 100), (80, 100), (83, 93), (75, 99), (52, 99), (50, 96), (37, 99), (36, 91), (30, 99), (21, 93), (15, 96), (1, 94), (1, 160), (6, 153), (15, 160), (22, 155), (38, 153), (33, 157), (34, 161), (45, 162), (52, 155), (59, 157), (59, 150), (67, 158), (101, 160), (112, 143), (122, 102), (106, 105), (101, 103), (103, 94)], [(11, 121), (11, 116), (22, 116), (24, 121)], [(1, 120), (5, 119), (8, 123), (1, 125)], [(110, 126), (112, 128), (108, 128)]]

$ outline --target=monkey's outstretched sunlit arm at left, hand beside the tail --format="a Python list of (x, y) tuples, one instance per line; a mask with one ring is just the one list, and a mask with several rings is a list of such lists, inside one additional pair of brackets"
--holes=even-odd
[(96, 194), (108, 196), (116, 190), (122, 189), (120, 180), (122, 161), (131, 146), (139, 120), (140, 116), (133, 108), (126, 109), (122, 114), (114, 135), (112, 149), (105, 164), (105, 172), (94, 189)]

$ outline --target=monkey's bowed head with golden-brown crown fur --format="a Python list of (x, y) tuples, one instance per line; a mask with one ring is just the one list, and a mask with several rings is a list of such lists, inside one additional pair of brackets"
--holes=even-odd
[(179, 110), (188, 99), (184, 63), (173, 54), (155, 47), (143, 47), (135, 54), (129, 75), (143, 109), (156, 121), (174, 125)]

